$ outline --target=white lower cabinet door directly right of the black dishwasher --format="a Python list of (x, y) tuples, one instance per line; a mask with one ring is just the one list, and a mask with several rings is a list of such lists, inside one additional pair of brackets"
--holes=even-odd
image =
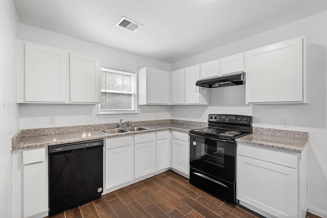
[[(107, 144), (107, 142), (106, 142)], [(132, 180), (132, 146), (105, 151), (105, 189)]]

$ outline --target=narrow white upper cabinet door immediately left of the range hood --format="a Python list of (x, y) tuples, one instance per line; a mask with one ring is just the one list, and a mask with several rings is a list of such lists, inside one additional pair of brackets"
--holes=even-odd
[(200, 87), (195, 83), (200, 79), (200, 65), (185, 68), (185, 103), (200, 104)]

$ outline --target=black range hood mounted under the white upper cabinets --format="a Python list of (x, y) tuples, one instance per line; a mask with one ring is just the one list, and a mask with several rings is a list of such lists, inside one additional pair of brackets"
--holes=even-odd
[(196, 82), (197, 86), (217, 88), (245, 84), (245, 72), (233, 72), (222, 76), (207, 77)]

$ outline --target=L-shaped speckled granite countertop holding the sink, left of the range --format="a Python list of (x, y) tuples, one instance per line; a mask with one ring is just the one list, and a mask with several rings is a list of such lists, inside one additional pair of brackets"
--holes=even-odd
[[(144, 123), (148, 124), (148, 123)], [(205, 126), (205, 123), (199, 122), (184, 122), (184, 123), (168, 123), (168, 124), (156, 124), (156, 125), (142, 125), (142, 127), (148, 128), (149, 130), (137, 131), (137, 132), (124, 132), (124, 133), (116, 133), (106, 135), (97, 130), (91, 131), (80, 131), (80, 132), (68, 132), (68, 133), (57, 133), (57, 134), (49, 134), (49, 135), (35, 135), (33, 136), (33, 132), (31, 130), (28, 134), (24, 133), (24, 130), (19, 130), (12, 138), (12, 150), (23, 150), (23, 149), (31, 149), (31, 148), (41, 148), (47, 146), (53, 146), (56, 144), (65, 144), (79, 141), (88, 141), (88, 140), (96, 140), (96, 139), (106, 139), (112, 137), (121, 137), (135, 134), (145, 134), (151, 132), (159, 132), (165, 130), (173, 130), (184, 133), (189, 133), (192, 129), (198, 129)], [(64, 127), (67, 128), (67, 127)], [(73, 128), (73, 127), (72, 127)], [(103, 130), (103, 126), (100, 130)], [(49, 131), (51, 128), (44, 128), (44, 131)], [(60, 129), (60, 128), (57, 128)], [(43, 131), (43, 130), (42, 130)], [(40, 132), (40, 129), (35, 129), (34, 132)]]

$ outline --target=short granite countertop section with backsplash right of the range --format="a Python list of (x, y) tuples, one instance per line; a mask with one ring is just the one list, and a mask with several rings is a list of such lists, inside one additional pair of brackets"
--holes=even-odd
[(253, 133), (237, 138), (237, 142), (266, 148), (301, 153), (309, 143), (309, 133), (253, 127)]

